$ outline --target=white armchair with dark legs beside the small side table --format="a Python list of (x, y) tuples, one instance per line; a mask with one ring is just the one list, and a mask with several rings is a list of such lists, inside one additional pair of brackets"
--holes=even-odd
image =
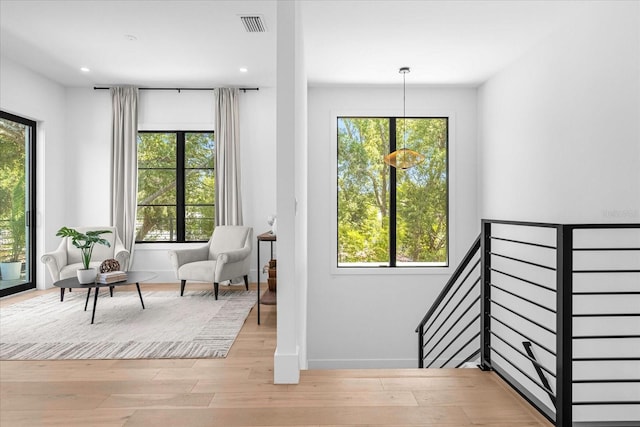
[(169, 251), (177, 278), (180, 296), (184, 295), (187, 280), (213, 282), (215, 299), (221, 282), (244, 278), (249, 290), (251, 242), (253, 228), (241, 225), (218, 225), (206, 245)]

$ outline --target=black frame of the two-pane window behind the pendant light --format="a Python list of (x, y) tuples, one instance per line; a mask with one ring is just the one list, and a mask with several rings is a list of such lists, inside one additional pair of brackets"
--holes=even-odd
[[(447, 257), (446, 261), (442, 265), (430, 265), (429, 263), (421, 263), (416, 262), (411, 265), (398, 265), (398, 254), (397, 254), (397, 169), (395, 167), (389, 167), (389, 253), (388, 253), (388, 265), (378, 264), (372, 262), (370, 265), (356, 265), (350, 263), (340, 263), (338, 261), (339, 258), (339, 246), (340, 246), (340, 236), (338, 227), (336, 227), (336, 268), (338, 269), (366, 269), (366, 268), (426, 268), (426, 269), (434, 269), (434, 268), (448, 268), (450, 266), (450, 258), (451, 258), (451, 176), (450, 176), (450, 125), (451, 125), (451, 117), (449, 116), (372, 116), (372, 115), (340, 115), (336, 117), (336, 147), (339, 144), (338, 140), (340, 138), (340, 130), (339, 125), (337, 124), (341, 119), (387, 119), (389, 120), (389, 153), (395, 151), (397, 148), (402, 148), (402, 141), (398, 143), (397, 141), (397, 126), (398, 121), (403, 119), (441, 119), (446, 120), (446, 224), (447, 224), (447, 235), (446, 235), (446, 247), (447, 247)], [(410, 147), (407, 147), (410, 148)], [(380, 159), (382, 161), (382, 159)], [(340, 152), (336, 149), (336, 164), (340, 162)], [(337, 179), (337, 174), (336, 174)], [(340, 209), (340, 199), (339, 199), (338, 190), (336, 190), (336, 218), (338, 218), (339, 209)]]

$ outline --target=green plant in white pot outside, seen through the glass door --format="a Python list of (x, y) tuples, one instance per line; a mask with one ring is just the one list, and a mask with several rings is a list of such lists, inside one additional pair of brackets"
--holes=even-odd
[(21, 255), (24, 253), (26, 236), (24, 194), (23, 178), (11, 193), (11, 211), (7, 221), (11, 244), (7, 255), (2, 257), (0, 262), (2, 280), (17, 280), (22, 271)]

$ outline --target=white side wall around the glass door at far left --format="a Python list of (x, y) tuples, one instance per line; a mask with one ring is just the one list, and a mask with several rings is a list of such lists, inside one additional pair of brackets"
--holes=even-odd
[(40, 256), (59, 242), (55, 233), (65, 225), (68, 203), (67, 176), (71, 152), (66, 148), (65, 90), (57, 83), (16, 64), (0, 59), (0, 108), (37, 122), (35, 282), (38, 289), (51, 284)]

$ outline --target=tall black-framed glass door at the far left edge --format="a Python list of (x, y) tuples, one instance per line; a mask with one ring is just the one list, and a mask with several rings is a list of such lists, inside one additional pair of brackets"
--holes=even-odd
[(36, 123), (0, 111), (0, 296), (35, 288)]

